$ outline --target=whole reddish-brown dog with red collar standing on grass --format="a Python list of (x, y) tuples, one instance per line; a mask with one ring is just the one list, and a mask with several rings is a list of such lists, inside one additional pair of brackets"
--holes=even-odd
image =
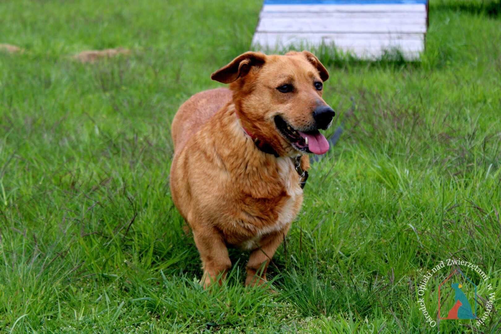
[(305, 153), (329, 149), (318, 131), (334, 117), (322, 100), (328, 78), (307, 51), (247, 52), (212, 74), (229, 90), (195, 94), (177, 111), (170, 188), (193, 231), (204, 287), (230, 268), (227, 246), (251, 251), (245, 285), (266, 282), (303, 202)]

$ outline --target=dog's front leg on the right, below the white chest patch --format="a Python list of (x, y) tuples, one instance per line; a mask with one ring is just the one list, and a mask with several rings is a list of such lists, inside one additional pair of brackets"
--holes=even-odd
[(288, 231), (289, 226), (282, 231), (267, 235), (261, 240), (261, 247), (250, 253), (249, 261), (245, 267), (245, 271), (247, 272), (245, 286), (262, 285), (267, 282), (266, 270), (268, 269), (268, 265)]

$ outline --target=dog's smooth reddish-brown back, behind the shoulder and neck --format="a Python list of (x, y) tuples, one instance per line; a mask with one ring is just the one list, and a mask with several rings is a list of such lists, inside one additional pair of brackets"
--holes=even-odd
[(172, 121), (174, 152), (179, 152), (188, 139), (231, 100), (231, 94), (227, 88), (210, 89), (193, 95), (179, 107)]

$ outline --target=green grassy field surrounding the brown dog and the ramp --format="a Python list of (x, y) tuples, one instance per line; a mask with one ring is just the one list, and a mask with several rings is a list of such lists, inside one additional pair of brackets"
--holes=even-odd
[[(243, 288), (236, 250), (226, 283), (201, 289), (168, 179), (174, 113), (248, 50), (261, 1), (0, 2), (0, 43), (26, 50), (0, 53), (0, 331), (501, 331), (501, 16), (486, 3), (431, 0), (417, 64), (317, 52), (329, 133), (345, 131), (313, 164), (270, 294)], [(119, 46), (132, 54), (70, 58)], [(448, 258), (489, 276), (461, 266), (477, 314), (497, 297), (479, 327), (436, 317), (452, 267), (424, 295), (437, 325), (419, 309)]]

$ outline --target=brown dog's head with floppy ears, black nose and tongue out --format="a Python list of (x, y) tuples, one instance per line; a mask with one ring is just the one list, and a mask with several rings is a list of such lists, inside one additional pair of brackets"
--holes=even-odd
[(322, 99), (329, 73), (308, 51), (285, 56), (246, 52), (214, 72), (213, 80), (230, 84), (242, 126), (281, 156), (324, 154), (334, 110)]

